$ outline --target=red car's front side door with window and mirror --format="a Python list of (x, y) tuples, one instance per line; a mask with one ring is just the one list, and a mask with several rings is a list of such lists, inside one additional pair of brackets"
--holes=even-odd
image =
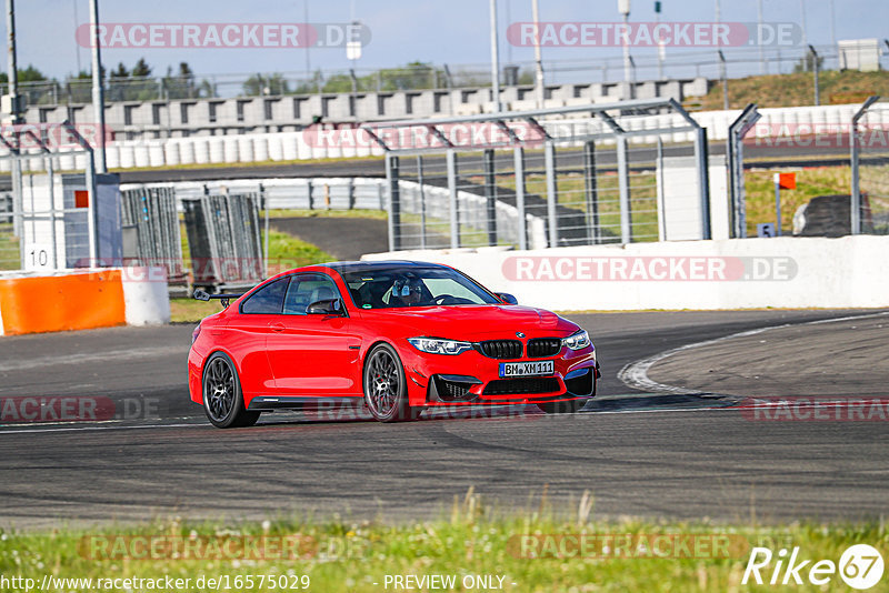
[[(340, 299), (322, 273), (290, 277), (280, 328), (269, 334), (267, 351), (276, 390), (283, 396), (361, 395), (360, 339), (346, 315), (308, 314), (309, 304)], [(344, 306), (341, 306), (344, 312)]]

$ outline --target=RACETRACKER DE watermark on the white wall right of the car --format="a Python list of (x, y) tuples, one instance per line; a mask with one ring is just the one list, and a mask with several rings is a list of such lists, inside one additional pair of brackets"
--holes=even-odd
[(779, 257), (562, 257), (512, 255), (502, 273), (512, 281), (568, 282), (735, 282), (789, 281), (798, 267)]

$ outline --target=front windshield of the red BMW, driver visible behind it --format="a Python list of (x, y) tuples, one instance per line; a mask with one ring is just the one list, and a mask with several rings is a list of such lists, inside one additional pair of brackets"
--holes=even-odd
[(472, 280), (447, 268), (386, 268), (343, 272), (359, 309), (500, 304)]

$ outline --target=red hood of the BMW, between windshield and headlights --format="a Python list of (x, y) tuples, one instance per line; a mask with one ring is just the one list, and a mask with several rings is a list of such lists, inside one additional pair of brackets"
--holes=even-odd
[(511, 338), (516, 332), (530, 336), (565, 336), (578, 325), (551, 311), (522, 305), (453, 305), (381, 309), (376, 313), (397, 321), (414, 335), (482, 340)]

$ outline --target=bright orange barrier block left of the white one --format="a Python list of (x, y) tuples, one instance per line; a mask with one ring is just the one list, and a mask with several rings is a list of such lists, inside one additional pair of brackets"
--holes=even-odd
[(0, 280), (0, 316), (6, 335), (123, 325), (120, 270)]

